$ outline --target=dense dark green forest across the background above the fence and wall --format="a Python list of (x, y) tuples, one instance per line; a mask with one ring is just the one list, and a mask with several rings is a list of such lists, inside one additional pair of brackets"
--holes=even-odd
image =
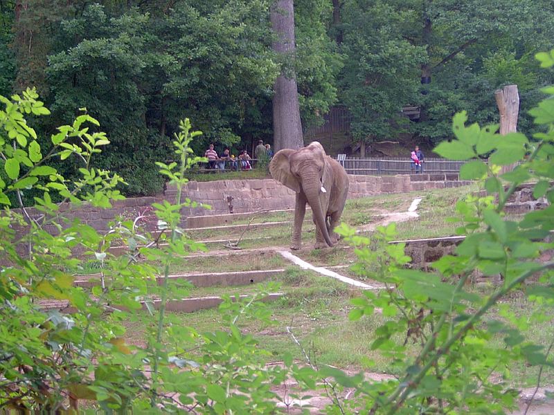
[[(127, 194), (152, 194), (154, 161), (172, 157), (181, 118), (204, 131), (199, 154), (211, 141), (271, 142), (281, 71), (296, 73), (304, 130), (340, 105), (352, 142), (407, 135), (429, 146), (449, 138), (456, 111), (497, 122), (493, 92), (510, 83), (519, 129), (532, 132), (526, 110), (553, 82), (534, 59), (552, 47), (552, 1), (296, 0), (296, 59), (271, 48), (271, 3), (0, 0), (0, 95), (37, 87), (53, 113), (35, 120), (44, 146), (86, 107), (112, 142), (99, 167), (122, 174)], [(418, 122), (406, 105), (420, 107)]]

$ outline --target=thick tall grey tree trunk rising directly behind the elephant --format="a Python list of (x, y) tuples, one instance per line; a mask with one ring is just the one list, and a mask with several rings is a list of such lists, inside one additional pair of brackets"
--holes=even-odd
[(292, 0), (277, 0), (271, 8), (271, 26), (277, 35), (273, 50), (287, 62), (287, 75), (282, 71), (274, 84), (273, 129), (274, 151), (303, 147), (298, 86), (294, 73), (294, 6)]

